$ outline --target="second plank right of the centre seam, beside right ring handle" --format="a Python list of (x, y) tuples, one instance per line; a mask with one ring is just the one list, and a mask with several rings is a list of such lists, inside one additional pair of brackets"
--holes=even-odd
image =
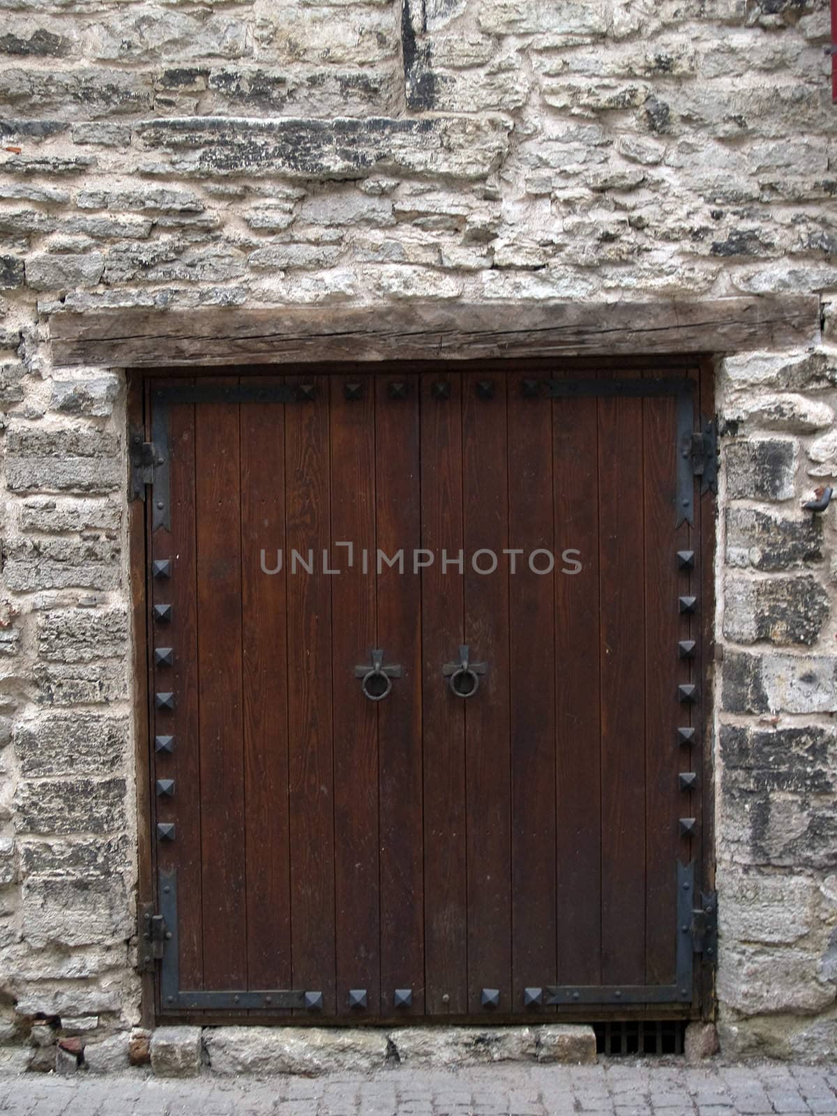
[(489, 664), (477, 695), (463, 702), (468, 1004), (473, 1014), (485, 1011), (483, 988), (499, 990), (502, 1010), (512, 1003), (509, 576), (502, 562), (509, 546), (506, 377), (491, 377), (491, 400), (479, 395), (484, 379), (469, 373), (462, 384), (464, 643), (474, 660)]

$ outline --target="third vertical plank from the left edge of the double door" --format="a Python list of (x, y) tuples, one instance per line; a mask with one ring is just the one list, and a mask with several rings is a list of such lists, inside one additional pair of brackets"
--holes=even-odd
[[(282, 381), (271, 376), (260, 383)], [(292, 980), (285, 550), (285, 405), (242, 404), (247, 954), (252, 989), (290, 988)]]

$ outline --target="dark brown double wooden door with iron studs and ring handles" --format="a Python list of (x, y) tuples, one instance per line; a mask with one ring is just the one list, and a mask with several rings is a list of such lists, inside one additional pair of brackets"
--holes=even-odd
[(157, 1011), (687, 1012), (700, 376), (367, 367), (146, 384)]

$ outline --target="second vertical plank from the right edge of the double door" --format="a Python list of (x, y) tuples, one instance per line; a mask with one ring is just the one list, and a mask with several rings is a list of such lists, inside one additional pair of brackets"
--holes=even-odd
[(642, 398), (599, 398), (598, 425), (602, 978), (605, 984), (642, 984), (645, 982)]

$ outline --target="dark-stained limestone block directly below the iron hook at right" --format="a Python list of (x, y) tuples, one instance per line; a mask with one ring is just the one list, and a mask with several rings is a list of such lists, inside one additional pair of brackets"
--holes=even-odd
[(807, 512), (791, 517), (775, 511), (727, 509), (728, 566), (759, 570), (796, 569), (822, 558), (822, 520)]

